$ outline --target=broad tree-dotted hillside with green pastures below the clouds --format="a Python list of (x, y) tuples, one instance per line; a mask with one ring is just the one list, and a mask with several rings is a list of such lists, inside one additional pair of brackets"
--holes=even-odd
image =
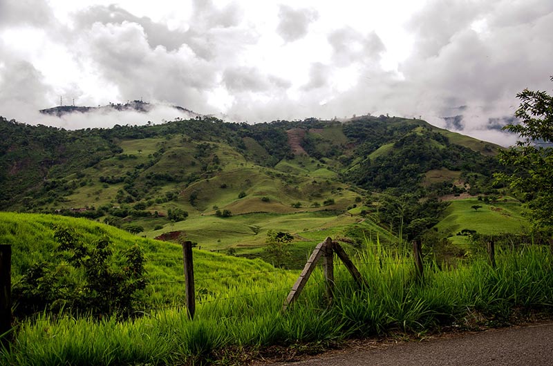
[(0, 133), (9, 136), (2, 211), (91, 218), (148, 238), (178, 231), (209, 250), (262, 258), (266, 233), (289, 231), (292, 267), (319, 231), (355, 245), (364, 235), (401, 242), (439, 221), (441, 197), (498, 194), (499, 146), (420, 119), (198, 116), (66, 131), (0, 118)]

